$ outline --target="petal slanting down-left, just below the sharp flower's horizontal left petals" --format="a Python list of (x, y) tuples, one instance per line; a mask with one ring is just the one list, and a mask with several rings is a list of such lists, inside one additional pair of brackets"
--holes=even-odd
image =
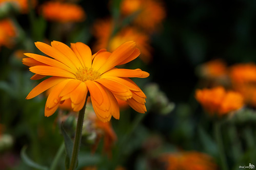
[(44, 92), (45, 90), (51, 88), (52, 86), (60, 83), (61, 81), (66, 80), (66, 78), (62, 78), (62, 77), (50, 77), (49, 79), (46, 79), (44, 81), (42, 81), (41, 83), (39, 83), (37, 86), (35, 86), (35, 88), (33, 88), (30, 93), (28, 94), (26, 99), (32, 99), (35, 96), (37, 96), (38, 94), (41, 94), (42, 92)]

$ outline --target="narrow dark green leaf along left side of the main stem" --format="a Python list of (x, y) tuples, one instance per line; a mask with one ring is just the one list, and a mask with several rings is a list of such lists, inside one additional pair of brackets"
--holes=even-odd
[(65, 131), (63, 124), (61, 125), (61, 131), (64, 137), (64, 142), (65, 142), (65, 150), (66, 150), (66, 161), (65, 161), (65, 166), (66, 169), (69, 169), (70, 166), (70, 159), (72, 156), (72, 150), (73, 150), (73, 141)]

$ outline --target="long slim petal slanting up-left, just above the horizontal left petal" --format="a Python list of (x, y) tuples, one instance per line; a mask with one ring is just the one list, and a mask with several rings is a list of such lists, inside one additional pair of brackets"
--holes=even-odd
[[(53, 67), (58, 67), (58, 68), (62, 68), (62, 69), (65, 69), (69, 72), (73, 72), (75, 73), (71, 68), (69, 68), (67, 65), (63, 64), (62, 62), (60, 61), (57, 61), (57, 60), (54, 60), (54, 59), (51, 59), (49, 57), (45, 57), (45, 56), (41, 56), (41, 55), (38, 55), (38, 54), (33, 54), (33, 53), (25, 53), (24, 55), (30, 57), (30, 58), (33, 58), (35, 59), (36, 61), (39, 61), (39, 62), (42, 62), (44, 64), (47, 64), (47, 65), (50, 65), (50, 66), (53, 66)], [(41, 64), (38, 64), (38, 65), (41, 65)]]

